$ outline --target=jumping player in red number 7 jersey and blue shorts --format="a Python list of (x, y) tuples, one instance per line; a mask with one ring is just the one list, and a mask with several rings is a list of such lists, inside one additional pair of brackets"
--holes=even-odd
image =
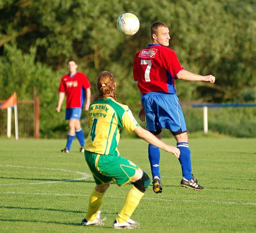
[[(204, 190), (204, 187), (200, 186), (191, 174), (187, 128), (179, 99), (175, 94), (174, 80), (214, 83), (215, 77), (193, 74), (181, 67), (175, 52), (167, 48), (171, 37), (164, 23), (153, 23), (150, 33), (152, 44), (137, 52), (133, 66), (134, 81), (138, 81), (141, 92), (139, 118), (142, 121), (147, 120), (148, 130), (159, 139), (161, 139), (162, 128), (172, 132), (180, 149), (179, 161), (183, 176), (180, 184), (194, 190)], [(149, 144), (148, 158), (153, 177), (153, 190), (155, 193), (161, 193), (159, 148)]]

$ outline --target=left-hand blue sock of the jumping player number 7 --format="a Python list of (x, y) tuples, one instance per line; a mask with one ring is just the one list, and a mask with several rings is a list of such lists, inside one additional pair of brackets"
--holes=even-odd
[(160, 150), (158, 147), (148, 144), (148, 159), (150, 162), (151, 173), (152, 173), (153, 179), (155, 176), (158, 176), (159, 179), (161, 179), (160, 167), (159, 167)]

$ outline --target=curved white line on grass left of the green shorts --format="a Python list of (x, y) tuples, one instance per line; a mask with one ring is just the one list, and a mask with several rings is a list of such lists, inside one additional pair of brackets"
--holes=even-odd
[(66, 170), (66, 169), (61, 169), (61, 168), (47, 168), (47, 167), (25, 167), (25, 166), (15, 166), (15, 165), (1, 165), (0, 167), (21, 167), (21, 168), (29, 168), (29, 169), (44, 169), (44, 170), (54, 170), (54, 171), (62, 171), (62, 172), (71, 172), (71, 173), (76, 173), (79, 175), (83, 175), (81, 178), (77, 179), (72, 179), (72, 180), (61, 180), (61, 181), (45, 181), (45, 182), (38, 182), (38, 183), (12, 183), (12, 184), (0, 184), (0, 186), (9, 186), (9, 185), (23, 185), (23, 184), (47, 184), (47, 183), (59, 183), (59, 182), (70, 182), (70, 181), (76, 181), (76, 180), (84, 180), (92, 175), (89, 175), (84, 172), (79, 172), (79, 171), (71, 171), (71, 170)]

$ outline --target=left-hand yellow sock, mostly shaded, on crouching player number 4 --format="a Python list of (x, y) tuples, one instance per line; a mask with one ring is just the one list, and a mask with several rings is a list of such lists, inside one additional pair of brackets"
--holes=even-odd
[(86, 214), (86, 219), (88, 221), (96, 220), (96, 215), (103, 201), (103, 196), (105, 193), (99, 193), (95, 189), (89, 198), (89, 206)]

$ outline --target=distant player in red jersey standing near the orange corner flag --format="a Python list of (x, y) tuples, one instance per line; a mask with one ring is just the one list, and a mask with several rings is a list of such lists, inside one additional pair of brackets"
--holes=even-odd
[(80, 118), (86, 97), (85, 110), (89, 109), (91, 102), (91, 86), (85, 74), (76, 72), (76, 61), (68, 61), (69, 74), (65, 74), (60, 81), (59, 102), (56, 108), (60, 112), (62, 102), (67, 96), (66, 101), (66, 120), (69, 120), (69, 131), (66, 147), (61, 150), (63, 153), (68, 153), (75, 135), (81, 145), (81, 152), (84, 152), (84, 133), (81, 128)]

